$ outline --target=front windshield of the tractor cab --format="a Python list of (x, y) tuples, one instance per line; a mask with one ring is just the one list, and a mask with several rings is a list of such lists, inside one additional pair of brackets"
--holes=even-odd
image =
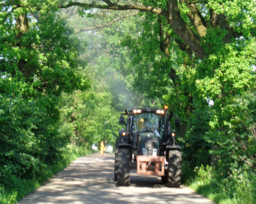
[(133, 116), (133, 124), (132, 129), (135, 131), (139, 131), (139, 133), (143, 132), (153, 132), (159, 137), (161, 140), (163, 137), (163, 132), (165, 125), (163, 124), (163, 116), (154, 114), (154, 113), (142, 113), (136, 114)]

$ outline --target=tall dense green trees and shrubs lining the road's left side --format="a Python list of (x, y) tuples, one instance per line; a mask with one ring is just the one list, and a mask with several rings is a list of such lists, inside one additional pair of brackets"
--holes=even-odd
[(72, 134), (59, 125), (59, 96), (89, 88), (80, 71), (78, 39), (54, 12), (42, 9), (36, 20), (28, 9), (15, 9), (0, 25), (2, 184), (37, 178), (61, 160)]

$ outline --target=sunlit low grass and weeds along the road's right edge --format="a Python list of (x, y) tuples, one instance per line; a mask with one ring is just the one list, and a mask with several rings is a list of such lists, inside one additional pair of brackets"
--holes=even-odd
[(240, 169), (225, 173), (208, 165), (196, 167), (193, 173), (183, 167), (184, 184), (219, 204), (255, 204), (256, 170)]

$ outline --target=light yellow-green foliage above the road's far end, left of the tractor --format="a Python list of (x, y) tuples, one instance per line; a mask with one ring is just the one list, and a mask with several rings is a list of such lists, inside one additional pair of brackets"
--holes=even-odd
[(70, 134), (76, 144), (99, 144), (101, 141), (114, 144), (120, 127), (119, 113), (111, 107), (111, 99), (107, 87), (101, 89), (95, 84), (86, 92), (62, 95), (61, 123), (74, 131)]

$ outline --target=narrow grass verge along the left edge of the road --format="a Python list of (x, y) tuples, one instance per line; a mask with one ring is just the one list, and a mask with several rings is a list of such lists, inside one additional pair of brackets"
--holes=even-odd
[(56, 165), (48, 166), (47, 170), (43, 171), (39, 178), (20, 179), (13, 177), (11, 186), (0, 185), (0, 204), (17, 203), (29, 192), (34, 192), (48, 178), (64, 170), (72, 161), (92, 152), (92, 150), (87, 149), (85, 146), (69, 145), (67, 153), (64, 154), (64, 159), (61, 162), (57, 162)]

